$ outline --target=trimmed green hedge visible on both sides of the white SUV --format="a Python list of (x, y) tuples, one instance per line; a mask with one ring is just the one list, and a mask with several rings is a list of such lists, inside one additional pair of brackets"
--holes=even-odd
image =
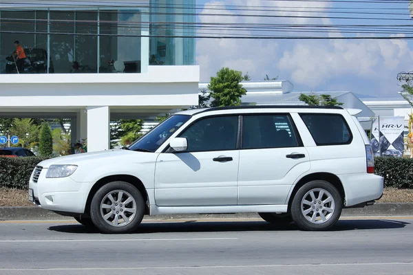
[[(0, 157), (0, 188), (26, 190), (33, 169), (44, 159), (47, 157)], [(376, 157), (374, 173), (385, 178), (385, 187), (413, 188), (413, 159)]]

